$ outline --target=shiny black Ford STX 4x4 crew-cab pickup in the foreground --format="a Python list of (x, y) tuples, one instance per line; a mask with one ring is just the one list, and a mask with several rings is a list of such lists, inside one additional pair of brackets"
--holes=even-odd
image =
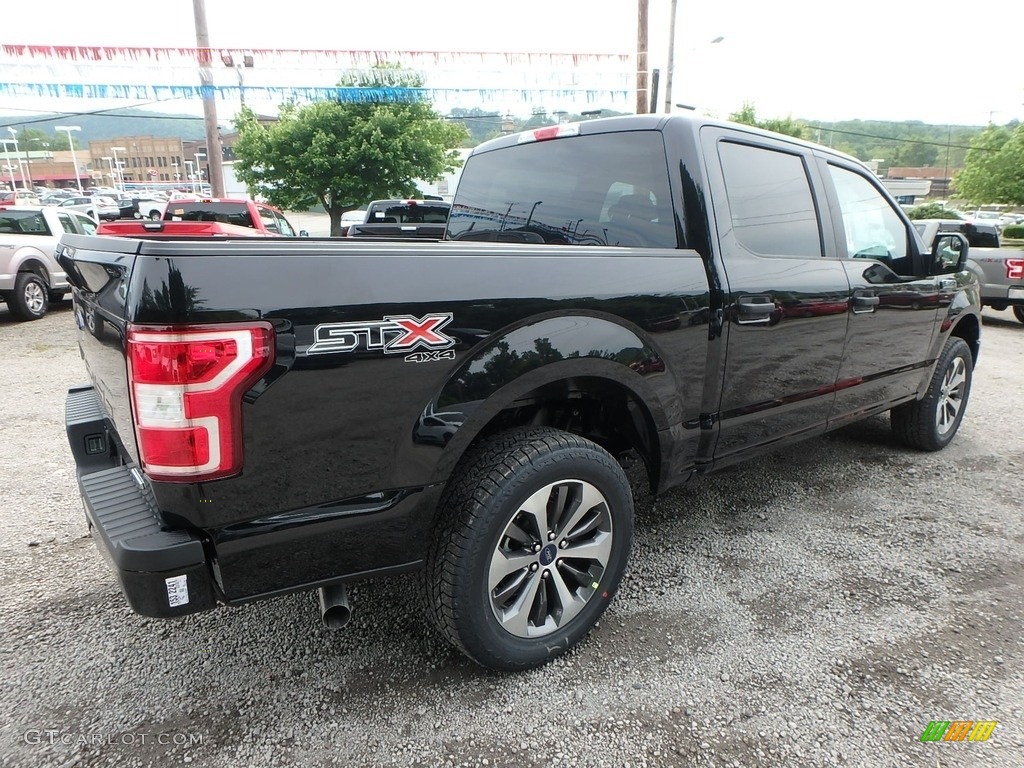
[(623, 457), (665, 492), (883, 412), (945, 446), (968, 250), (852, 158), (690, 116), (480, 145), (440, 242), (67, 236), (89, 526), (145, 615), (318, 590), (340, 626), (416, 570), (452, 643), (535, 667), (615, 594)]

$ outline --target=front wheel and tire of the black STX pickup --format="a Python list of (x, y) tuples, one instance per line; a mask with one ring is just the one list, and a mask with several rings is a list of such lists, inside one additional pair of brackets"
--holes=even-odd
[(973, 369), (967, 342), (950, 337), (935, 364), (925, 397), (889, 412), (895, 435), (922, 451), (941, 451), (948, 445), (967, 410)]

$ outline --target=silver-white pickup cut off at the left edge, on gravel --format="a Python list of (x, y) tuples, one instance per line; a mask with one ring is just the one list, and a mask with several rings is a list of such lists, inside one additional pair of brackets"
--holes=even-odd
[(0, 298), (18, 319), (39, 319), (70, 290), (53, 258), (60, 237), (95, 234), (96, 222), (78, 211), (50, 206), (0, 210)]

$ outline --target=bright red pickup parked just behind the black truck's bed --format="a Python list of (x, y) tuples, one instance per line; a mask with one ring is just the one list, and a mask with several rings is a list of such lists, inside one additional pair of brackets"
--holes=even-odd
[(273, 206), (246, 199), (202, 198), (172, 200), (160, 221), (110, 221), (97, 234), (151, 237), (154, 234), (231, 238), (306, 237), (296, 230)]

